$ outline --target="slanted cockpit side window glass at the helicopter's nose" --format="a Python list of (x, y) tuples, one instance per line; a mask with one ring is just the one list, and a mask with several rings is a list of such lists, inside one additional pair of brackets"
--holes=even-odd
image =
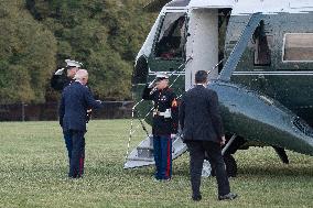
[(155, 56), (165, 59), (183, 58), (186, 43), (185, 29), (184, 13), (166, 13), (155, 43)]

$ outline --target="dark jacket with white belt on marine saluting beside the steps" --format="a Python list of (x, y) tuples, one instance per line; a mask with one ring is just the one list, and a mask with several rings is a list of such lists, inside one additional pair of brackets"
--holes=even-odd
[[(153, 124), (152, 124), (152, 134), (166, 135), (171, 133), (177, 133), (179, 125), (179, 108), (176, 95), (170, 88), (162, 90), (155, 90), (150, 94), (152, 88), (145, 86), (142, 99), (153, 100), (154, 110), (153, 110)], [(172, 118), (164, 118), (159, 116), (160, 112), (165, 112), (166, 109), (171, 109)]]

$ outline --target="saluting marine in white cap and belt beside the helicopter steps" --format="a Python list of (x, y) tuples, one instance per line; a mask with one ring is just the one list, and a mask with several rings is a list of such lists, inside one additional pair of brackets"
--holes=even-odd
[(172, 177), (172, 138), (177, 132), (176, 95), (169, 88), (169, 76), (159, 73), (155, 81), (145, 86), (142, 99), (153, 100), (153, 155), (155, 161), (155, 178), (170, 180)]

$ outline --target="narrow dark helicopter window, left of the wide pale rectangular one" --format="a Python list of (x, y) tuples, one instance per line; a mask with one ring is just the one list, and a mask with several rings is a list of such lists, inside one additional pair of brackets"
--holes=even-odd
[(255, 65), (269, 66), (271, 64), (270, 45), (272, 44), (272, 35), (266, 34), (263, 21), (260, 22), (260, 25), (255, 31), (253, 42), (255, 42)]

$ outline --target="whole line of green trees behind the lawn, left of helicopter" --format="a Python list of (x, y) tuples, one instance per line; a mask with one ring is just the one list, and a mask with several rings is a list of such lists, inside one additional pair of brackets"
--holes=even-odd
[(0, 0), (0, 102), (57, 100), (52, 74), (71, 58), (107, 100), (131, 99), (137, 52), (155, 14), (148, 0)]

